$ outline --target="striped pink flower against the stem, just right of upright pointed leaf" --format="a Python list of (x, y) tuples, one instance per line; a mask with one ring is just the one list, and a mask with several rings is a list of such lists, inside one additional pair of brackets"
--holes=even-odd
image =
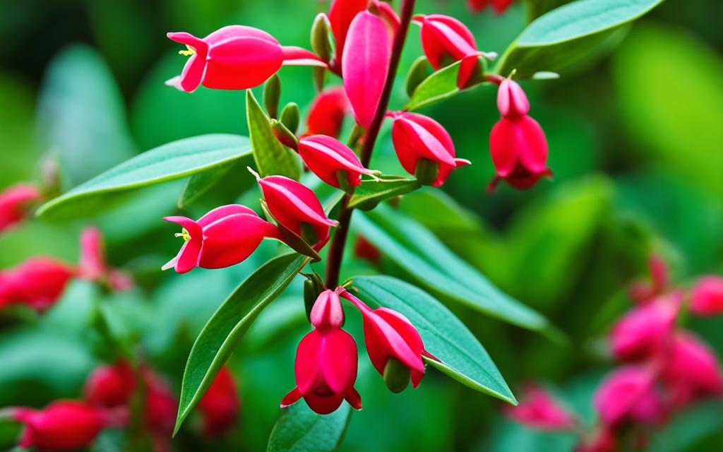
[(377, 171), (361, 166), (359, 157), (342, 142), (325, 135), (311, 135), (299, 140), (299, 155), (319, 179), (340, 187), (339, 172), (351, 187), (359, 187), (361, 174), (376, 174)]

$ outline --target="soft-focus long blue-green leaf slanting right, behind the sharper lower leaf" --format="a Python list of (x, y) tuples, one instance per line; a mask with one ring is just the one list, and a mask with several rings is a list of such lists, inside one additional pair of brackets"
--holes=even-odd
[(424, 226), (388, 206), (357, 213), (354, 226), (416, 281), (446, 299), (522, 328), (552, 332), (542, 315), (497, 289)]

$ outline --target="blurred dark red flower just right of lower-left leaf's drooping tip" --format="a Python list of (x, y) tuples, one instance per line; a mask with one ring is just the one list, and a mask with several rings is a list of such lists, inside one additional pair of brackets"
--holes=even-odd
[(236, 392), (234, 377), (227, 367), (221, 367), (213, 383), (198, 401), (198, 409), (206, 436), (221, 436), (234, 427), (239, 416), (239, 394)]

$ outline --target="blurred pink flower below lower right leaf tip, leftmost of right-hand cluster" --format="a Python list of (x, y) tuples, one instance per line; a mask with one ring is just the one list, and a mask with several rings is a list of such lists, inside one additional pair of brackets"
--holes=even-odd
[(576, 425), (575, 417), (560, 401), (534, 386), (528, 388), (526, 399), (518, 406), (505, 406), (505, 414), (522, 425), (542, 430), (573, 430)]

